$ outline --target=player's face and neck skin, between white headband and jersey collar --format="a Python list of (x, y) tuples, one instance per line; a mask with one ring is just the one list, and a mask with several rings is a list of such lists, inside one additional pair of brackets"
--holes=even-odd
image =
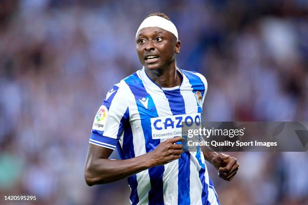
[[(146, 68), (146, 74), (161, 87), (175, 87), (181, 84), (181, 75), (176, 72), (176, 54), (180, 53), (181, 42), (164, 29), (144, 28), (136, 38), (139, 61)], [(145, 60), (147, 55), (158, 56), (156, 61)]]

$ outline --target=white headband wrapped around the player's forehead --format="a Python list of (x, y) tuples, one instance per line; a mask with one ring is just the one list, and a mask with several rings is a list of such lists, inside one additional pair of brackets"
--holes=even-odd
[(147, 27), (159, 27), (161, 29), (165, 29), (166, 31), (173, 33), (177, 37), (177, 40), (179, 40), (178, 30), (175, 27), (175, 25), (171, 21), (163, 17), (150, 16), (144, 19), (137, 30), (136, 37), (141, 29), (144, 29)]

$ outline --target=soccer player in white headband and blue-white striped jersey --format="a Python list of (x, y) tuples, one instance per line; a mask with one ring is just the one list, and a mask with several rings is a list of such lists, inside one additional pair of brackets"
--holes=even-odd
[[(181, 42), (165, 14), (145, 18), (135, 40), (143, 68), (113, 85), (99, 108), (89, 140), (87, 184), (128, 177), (132, 204), (219, 204), (205, 160), (225, 180), (237, 173), (237, 160), (216, 152), (183, 152), (181, 137), (153, 136), (186, 119), (200, 120), (205, 77), (176, 66)], [(108, 159), (115, 149), (121, 160)]]

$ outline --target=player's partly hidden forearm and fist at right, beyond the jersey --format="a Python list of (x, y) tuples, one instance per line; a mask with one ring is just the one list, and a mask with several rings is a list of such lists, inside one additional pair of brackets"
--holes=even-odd
[(230, 181), (239, 170), (237, 159), (229, 155), (212, 151), (209, 147), (202, 150), (206, 161), (210, 162), (217, 170), (220, 178)]

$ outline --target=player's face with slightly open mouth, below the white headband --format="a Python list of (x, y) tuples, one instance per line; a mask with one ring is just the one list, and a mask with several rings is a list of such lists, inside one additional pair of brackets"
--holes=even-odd
[(147, 69), (163, 68), (175, 60), (180, 41), (169, 31), (158, 27), (141, 29), (136, 38), (139, 60)]

